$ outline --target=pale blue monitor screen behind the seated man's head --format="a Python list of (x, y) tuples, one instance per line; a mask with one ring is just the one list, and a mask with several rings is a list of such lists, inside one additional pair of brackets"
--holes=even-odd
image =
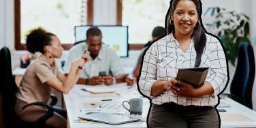
[[(92, 26), (76, 26), (75, 41), (86, 39), (86, 31)], [(128, 27), (127, 26), (97, 26), (102, 33), (102, 42), (113, 48), (119, 57), (128, 57)]]

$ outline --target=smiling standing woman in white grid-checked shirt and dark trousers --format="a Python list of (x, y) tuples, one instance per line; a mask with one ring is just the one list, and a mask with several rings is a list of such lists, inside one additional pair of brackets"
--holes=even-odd
[[(220, 126), (214, 106), (228, 80), (227, 61), (217, 37), (205, 32), (201, 14), (199, 0), (170, 1), (167, 35), (144, 54), (139, 86), (153, 103), (149, 127)], [(178, 69), (191, 67), (209, 67), (198, 88), (176, 79)]]

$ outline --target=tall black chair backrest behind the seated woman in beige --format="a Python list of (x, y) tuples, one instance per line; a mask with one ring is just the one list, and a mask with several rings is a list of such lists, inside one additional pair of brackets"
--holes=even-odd
[(4, 127), (15, 127), (17, 123), (14, 105), (16, 103), (17, 86), (12, 75), (10, 50), (3, 47), (0, 50), (0, 95)]

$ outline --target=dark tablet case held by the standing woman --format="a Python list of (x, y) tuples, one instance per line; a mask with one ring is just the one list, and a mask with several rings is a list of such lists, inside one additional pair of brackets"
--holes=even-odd
[[(206, 76), (208, 74), (208, 69), (209, 67), (178, 69), (176, 80), (187, 82), (188, 84), (191, 84), (194, 88), (198, 88), (199, 86), (204, 84), (204, 81), (206, 80)], [(179, 84), (175, 85), (181, 86)]]

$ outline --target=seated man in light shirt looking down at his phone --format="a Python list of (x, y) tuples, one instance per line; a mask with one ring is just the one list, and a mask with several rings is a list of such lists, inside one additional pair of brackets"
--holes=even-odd
[[(86, 43), (77, 44), (69, 50), (69, 56), (64, 66), (65, 73), (69, 71), (70, 63), (74, 59), (80, 57), (85, 50), (90, 52), (91, 61), (84, 65), (87, 68), (82, 71), (78, 84), (111, 85), (125, 82), (127, 74), (124, 72), (120, 58), (114, 50), (102, 44), (101, 38), (102, 35), (99, 28), (91, 27), (86, 32)], [(106, 72), (106, 76), (99, 75), (102, 71)]]

